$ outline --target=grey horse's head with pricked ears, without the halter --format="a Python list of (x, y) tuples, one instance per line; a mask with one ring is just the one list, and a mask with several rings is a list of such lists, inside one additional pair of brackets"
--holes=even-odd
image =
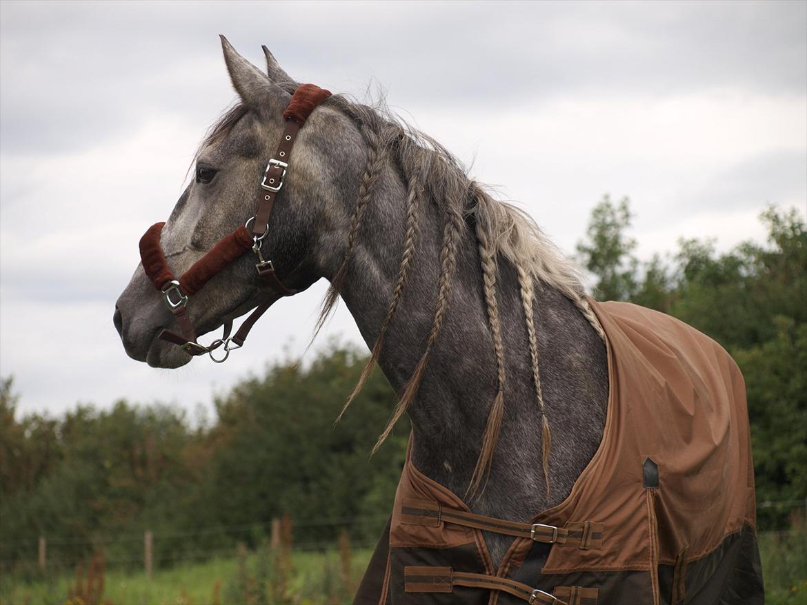
[[(298, 88), (266, 48), (264, 73), (224, 36), (222, 46), (239, 102), (211, 127), (196, 153), (193, 180), (157, 232), (165, 261), (177, 276), (253, 218), (258, 202), (270, 193), (261, 182), (282, 140), (284, 111)], [(282, 188), (274, 192), (277, 199), (259, 252), (289, 290), (304, 290), (337, 271), (366, 156), (353, 120), (326, 104), (307, 116), (294, 143), (293, 161), (277, 158), (289, 166), (281, 172)], [(253, 256), (233, 259), (194, 293), (186, 314), (197, 335), (271, 301), (274, 293), (256, 273)], [(171, 295), (177, 299), (182, 293)], [(186, 349), (158, 338), (175, 319), (142, 262), (115, 305), (114, 319), (126, 352), (137, 361), (176, 368), (193, 358)]]

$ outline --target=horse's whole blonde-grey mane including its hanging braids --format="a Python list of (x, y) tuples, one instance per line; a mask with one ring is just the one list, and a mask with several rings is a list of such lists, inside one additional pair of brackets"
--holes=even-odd
[[(497, 277), (500, 262), (512, 265), (518, 275), (525, 331), (529, 340), (529, 358), (532, 366), (535, 400), (542, 417), (543, 471), (548, 494), (551, 432), (541, 391), (538, 339), (533, 315), (535, 285), (536, 282), (542, 282), (569, 298), (591, 323), (600, 338), (604, 339), (600, 323), (585, 298), (579, 268), (562, 255), (529, 215), (512, 204), (492, 198), (483, 186), (467, 177), (462, 164), (441, 144), (392, 115), (383, 103), (371, 107), (351, 102), (342, 95), (334, 95), (325, 104), (334, 106), (353, 119), (368, 144), (368, 152), (366, 171), (362, 177), (358, 202), (353, 211), (345, 257), (325, 295), (315, 336), (337, 303), (339, 290), (344, 282), (353, 252), (353, 245), (359, 227), (362, 225), (362, 218), (367, 206), (372, 202), (374, 187), (388, 161), (394, 161), (400, 167), (407, 185), (407, 227), (399, 261), (398, 279), (392, 291), (387, 315), (373, 345), (370, 359), (362, 370), (353, 393), (345, 402), (337, 422), (353, 402), (353, 398), (362, 390), (362, 386), (370, 376), (370, 371), (381, 354), (387, 329), (395, 320), (395, 313), (412, 268), (412, 260), (420, 238), (420, 219), (424, 214), (424, 204), (435, 204), (442, 211), (444, 226), (440, 252), (441, 273), (437, 280), (437, 298), (432, 326), (426, 338), (420, 361), (418, 361), (412, 377), (403, 386), (395, 410), (387, 427), (378, 437), (373, 452), (378, 450), (383, 441), (387, 439), (392, 428), (407, 411), (417, 394), (424, 369), (429, 361), (429, 353), (440, 334), (445, 311), (449, 305), (460, 240), (464, 236), (475, 236), (479, 248), (480, 273), (487, 306), (487, 323), (495, 353), (498, 388), (488, 413), (482, 448), (466, 491), (466, 498), (481, 494), (487, 484), (487, 475), (490, 472), (504, 411), (507, 376), (497, 302)], [(472, 234), (466, 227), (466, 219), (469, 218), (470, 223), (475, 226)]]

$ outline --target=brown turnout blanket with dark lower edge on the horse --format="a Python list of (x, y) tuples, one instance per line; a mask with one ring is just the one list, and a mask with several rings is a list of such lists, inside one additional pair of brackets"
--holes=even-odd
[[(355, 603), (763, 603), (737, 365), (668, 315), (592, 307), (607, 336), (608, 411), (568, 498), (529, 524), (480, 524), (407, 457)], [(498, 569), (481, 529), (495, 523), (516, 536)]]

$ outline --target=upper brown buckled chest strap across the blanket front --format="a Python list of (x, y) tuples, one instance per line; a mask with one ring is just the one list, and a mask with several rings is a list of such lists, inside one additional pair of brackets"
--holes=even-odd
[(604, 524), (593, 521), (569, 521), (562, 528), (554, 525), (520, 523), (495, 519), (472, 512), (446, 508), (432, 500), (404, 498), (401, 504), (402, 524), (437, 528), (442, 523), (462, 525), (483, 532), (495, 532), (517, 538), (528, 538), (543, 544), (577, 546), (580, 549), (600, 549)]

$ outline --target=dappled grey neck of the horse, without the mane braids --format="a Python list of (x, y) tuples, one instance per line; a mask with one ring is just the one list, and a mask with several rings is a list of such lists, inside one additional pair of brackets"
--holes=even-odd
[[(392, 170), (370, 202), (341, 296), (370, 348), (387, 315), (398, 278), (405, 224), (405, 186)], [(427, 207), (408, 282), (378, 363), (396, 392), (412, 375), (432, 325), (444, 219)], [(575, 306), (538, 284), (536, 328), (546, 409), (554, 436), (551, 497), (541, 473), (541, 415), (529, 363), (525, 317), (515, 271), (500, 262), (499, 304), (506, 355), (505, 411), (487, 489), (473, 509), (529, 519), (568, 494), (600, 441), (608, 379), (604, 348)], [(460, 497), (475, 468), (496, 393), (495, 355), (487, 328), (477, 242), (462, 236), (450, 304), (416, 398), (414, 464)], [(380, 431), (379, 427), (379, 431)], [(398, 429), (402, 430), (402, 429)]]

